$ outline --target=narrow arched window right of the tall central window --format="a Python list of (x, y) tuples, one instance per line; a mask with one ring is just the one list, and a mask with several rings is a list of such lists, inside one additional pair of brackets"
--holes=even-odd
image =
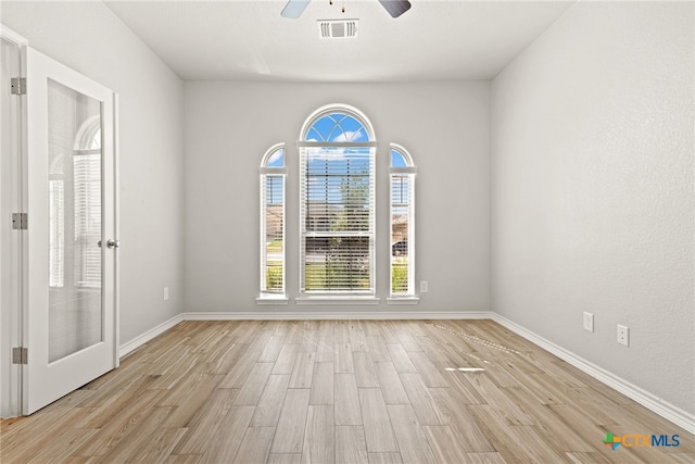
[(391, 297), (415, 297), (415, 174), (410, 154), (391, 143)]

